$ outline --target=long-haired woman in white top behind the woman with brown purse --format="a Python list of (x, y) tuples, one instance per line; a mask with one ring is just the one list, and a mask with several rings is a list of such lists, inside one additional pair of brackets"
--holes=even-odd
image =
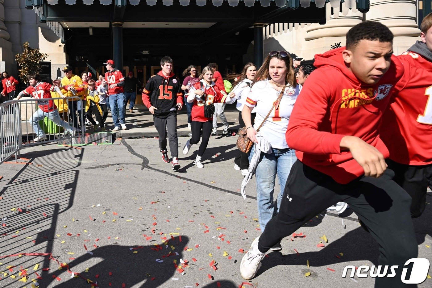
[[(245, 126), (245, 122), (243, 121), (243, 118), (241, 117), (241, 110), (243, 110), (243, 106), (245, 106), (245, 100), (246, 97), (248, 97), (249, 92), (251, 91), (251, 85), (252, 81), (255, 79), (255, 74), (257, 73), (257, 68), (255, 64), (248, 62), (245, 67), (243, 67), (243, 70), (240, 74), (230, 74), (227, 77), (227, 80), (235, 80), (232, 90), (230, 94), (234, 93), (235, 96), (231, 99), (227, 99), (227, 103), (234, 103), (235, 100), (237, 100), (237, 110), (239, 111), (238, 114), (238, 122), (240, 123), (240, 127)], [(252, 110), (251, 112), (251, 122), (254, 123), (255, 118), (255, 110)], [(249, 160), (248, 160), (248, 154), (241, 152), (240, 150), (237, 151), (237, 156), (234, 159), (234, 169), (235, 170), (241, 170), (241, 174), (246, 176), (246, 173), (248, 173), (249, 168)]]

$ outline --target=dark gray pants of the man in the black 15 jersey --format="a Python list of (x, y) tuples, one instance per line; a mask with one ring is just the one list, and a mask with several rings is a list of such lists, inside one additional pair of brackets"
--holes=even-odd
[(169, 150), (171, 157), (178, 157), (177, 115), (157, 118), (153, 115), (153, 123), (159, 133), (159, 148), (166, 150), (166, 134), (168, 128)]

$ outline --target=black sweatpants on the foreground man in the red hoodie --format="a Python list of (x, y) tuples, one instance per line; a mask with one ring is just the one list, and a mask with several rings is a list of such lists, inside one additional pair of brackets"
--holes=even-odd
[(361, 176), (344, 185), (297, 160), (286, 181), (280, 211), (267, 223), (258, 249), (268, 251), (309, 219), (343, 201), (378, 242), (378, 265), (399, 266), (395, 277), (376, 278), (375, 287), (404, 286), (400, 281), (403, 265), (417, 257), (418, 246), (410, 215), (411, 197), (392, 180), (393, 176), (387, 169), (379, 178)]

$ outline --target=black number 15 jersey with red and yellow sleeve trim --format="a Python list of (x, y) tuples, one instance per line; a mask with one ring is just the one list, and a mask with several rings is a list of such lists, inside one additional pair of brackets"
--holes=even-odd
[(183, 103), (181, 83), (174, 73), (166, 77), (159, 71), (147, 81), (143, 90), (143, 103), (147, 108), (156, 107), (155, 116), (165, 118), (169, 115), (176, 115), (177, 103)]

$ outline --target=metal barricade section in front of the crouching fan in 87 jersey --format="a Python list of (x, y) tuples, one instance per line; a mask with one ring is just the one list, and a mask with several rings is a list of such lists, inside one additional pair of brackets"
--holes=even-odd
[[(44, 108), (48, 107), (51, 100), (57, 109), (44, 112)], [(70, 139), (70, 145), (73, 146), (73, 138), (84, 135), (85, 103), (79, 96), (67, 99), (25, 98), (16, 102), (21, 116), (21, 147), (56, 142), (60, 139)]]

